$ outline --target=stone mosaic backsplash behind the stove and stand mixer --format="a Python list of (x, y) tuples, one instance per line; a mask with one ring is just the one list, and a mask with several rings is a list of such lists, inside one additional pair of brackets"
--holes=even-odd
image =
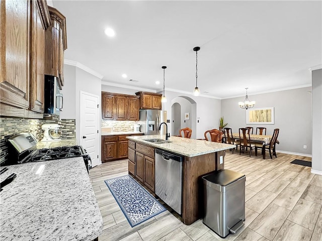
[(8, 154), (7, 140), (19, 133), (32, 133), (38, 141), (43, 138), (41, 125), (55, 123), (61, 126), (61, 139), (75, 138), (75, 120), (61, 119), (51, 121), (46, 119), (23, 119), (13, 117), (0, 117), (0, 163), (6, 160)]

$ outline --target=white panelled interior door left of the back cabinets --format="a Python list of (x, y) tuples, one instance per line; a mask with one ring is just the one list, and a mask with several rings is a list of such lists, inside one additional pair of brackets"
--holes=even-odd
[(81, 145), (91, 156), (92, 166), (99, 161), (99, 96), (81, 91), (79, 130)]

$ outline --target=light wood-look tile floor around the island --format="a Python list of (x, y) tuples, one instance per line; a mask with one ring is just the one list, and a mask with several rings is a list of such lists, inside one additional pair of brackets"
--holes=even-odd
[[(277, 153), (277, 158), (226, 153), (225, 169), (246, 174), (245, 225), (225, 239), (202, 223), (185, 225), (174, 211), (160, 213), (131, 227), (104, 180), (128, 174), (128, 160), (90, 170), (103, 217), (104, 240), (322, 240), (322, 176), (290, 164), (311, 158)], [(162, 200), (159, 200), (161, 203)]]

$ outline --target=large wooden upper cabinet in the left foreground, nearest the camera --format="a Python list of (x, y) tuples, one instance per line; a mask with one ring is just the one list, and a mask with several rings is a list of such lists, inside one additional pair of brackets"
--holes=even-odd
[(45, 1), (1, 1), (1, 115), (42, 118), (44, 111)]

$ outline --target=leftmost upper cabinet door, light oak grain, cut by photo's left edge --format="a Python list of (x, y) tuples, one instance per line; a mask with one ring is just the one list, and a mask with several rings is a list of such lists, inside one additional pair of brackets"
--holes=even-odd
[(30, 1), (1, 1), (0, 101), (29, 108)]

